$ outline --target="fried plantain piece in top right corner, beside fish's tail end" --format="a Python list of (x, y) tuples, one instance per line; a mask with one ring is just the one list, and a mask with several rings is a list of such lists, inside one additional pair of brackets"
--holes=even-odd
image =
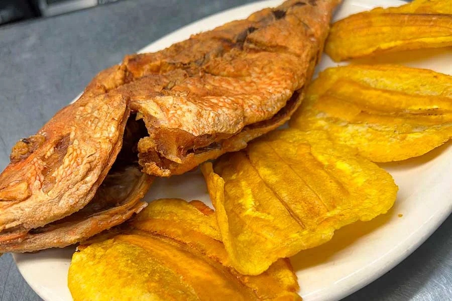
[(334, 23), (325, 52), (336, 62), (369, 55), (452, 46), (452, 3), (414, 1)]

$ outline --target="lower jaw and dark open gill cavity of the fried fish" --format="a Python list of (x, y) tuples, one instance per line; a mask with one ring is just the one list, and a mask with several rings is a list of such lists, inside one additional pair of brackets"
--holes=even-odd
[(14, 227), (0, 233), (2, 252), (29, 252), (65, 247), (119, 225), (147, 206), (141, 201), (153, 177), (138, 164), (138, 140), (146, 129), (132, 114), (126, 124), (123, 144), (94, 197), (81, 210), (31, 230)]

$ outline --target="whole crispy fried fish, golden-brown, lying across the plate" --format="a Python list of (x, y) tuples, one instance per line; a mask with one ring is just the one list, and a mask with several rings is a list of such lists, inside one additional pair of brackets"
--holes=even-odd
[[(74, 104), (13, 147), (0, 175), (0, 251), (63, 246), (53, 243), (61, 231), (36, 248), (22, 243), (32, 229), (44, 227), (41, 237), (55, 230), (45, 226), (81, 210), (96, 192), (101, 200), (98, 188), (114, 163), (182, 174), (283, 124), (302, 99), (340, 2), (290, 0), (100, 72)], [(127, 185), (142, 195), (146, 177)]]

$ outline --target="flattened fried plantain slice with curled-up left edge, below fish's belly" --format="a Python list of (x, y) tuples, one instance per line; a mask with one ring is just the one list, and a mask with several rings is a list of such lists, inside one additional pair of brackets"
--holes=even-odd
[(272, 132), (201, 170), (224, 246), (245, 274), (386, 213), (397, 194), (391, 175), (324, 131)]

